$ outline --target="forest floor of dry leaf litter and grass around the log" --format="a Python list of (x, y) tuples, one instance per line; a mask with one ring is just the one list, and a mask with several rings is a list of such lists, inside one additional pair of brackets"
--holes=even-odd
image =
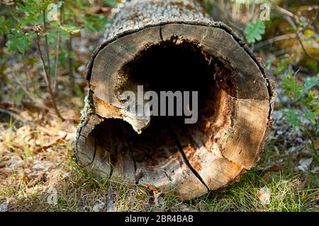
[[(15, 73), (41, 73), (38, 64), (25, 68), (26, 64), (13, 60), (3, 70), (11, 82), (0, 90), (0, 212), (319, 210), (318, 141), (313, 150), (307, 136), (284, 120), (281, 110), (287, 108), (286, 97), (274, 66), (269, 70), (277, 93), (272, 132), (257, 167), (243, 174), (240, 182), (180, 201), (171, 193), (154, 194), (121, 179), (97, 179), (88, 174), (77, 165), (72, 147), (83, 107), (86, 62), (101, 35), (84, 36), (74, 42), (79, 89), (72, 92), (67, 72), (60, 71), (57, 102), (65, 121), (35, 105), (23, 86), (17, 85)], [(267, 61), (262, 52), (257, 54)], [(289, 64), (298, 67), (296, 61)], [(32, 76), (28, 78), (33, 81)], [(41, 90), (42, 83), (31, 88)]]

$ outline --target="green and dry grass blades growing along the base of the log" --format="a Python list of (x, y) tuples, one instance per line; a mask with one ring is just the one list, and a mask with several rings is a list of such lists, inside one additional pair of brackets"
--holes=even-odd
[[(161, 194), (155, 201), (154, 194), (141, 186), (127, 184), (121, 179), (97, 179), (88, 174), (74, 162), (71, 144), (57, 145), (55, 149), (56, 155), (42, 157), (60, 162), (53, 170), (56, 175), (47, 173), (47, 178), (31, 187), (17, 174), (1, 183), (0, 197), (10, 201), (9, 210), (106, 211), (111, 197), (108, 191), (111, 191), (114, 211), (318, 211), (319, 189), (300, 190), (302, 175), (286, 173), (285, 169), (269, 173), (252, 169), (240, 182), (191, 201), (182, 202), (172, 193)], [(269, 155), (272, 150), (266, 150), (263, 156)], [(24, 167), (28, 160), (30, 157), (25, 155)], [(51, 187), (57, 191), (56, 204), (47, 203), (52, 195), (52, 191), (48, 192)], [(269, 191), (268, 204), (262, 204), (257, 195), (262, 188)]]

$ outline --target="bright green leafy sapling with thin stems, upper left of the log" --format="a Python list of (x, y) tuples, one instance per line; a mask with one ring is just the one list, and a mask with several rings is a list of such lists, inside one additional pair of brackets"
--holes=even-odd
[(52, 107), (61, 119), (55, 101), (57, 72), (62, 66), (68, 68), (74, 82), (72, 36), (82, 29), (87, 32), (103, 31), (108, 23), (103, 15), (86, 13), (89, 7), (89, 1), (82, 0), (25, 0), (5, 6), (5, 11), (0, 10), (0, 35), (5, 35), (7, 40), (8, 54), (5, 57), (14, 54), (24, 64), (24, 59), (30, 54), (38, 56), (38, 61), (33, 61), (33, 64), (40, 61)]

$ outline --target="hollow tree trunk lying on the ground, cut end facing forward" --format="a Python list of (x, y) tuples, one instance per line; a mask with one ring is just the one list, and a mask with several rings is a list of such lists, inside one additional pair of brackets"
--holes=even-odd
[[(272, 123), (267, 73), (226, 25), (186, 0), (130, 1), (88, 65), (77, 160), (101, 177), (174, 190), (216, 190), (254, 167)], [(125, 109), (132, 90), (196, 90), (198, 121)], [(138, 106), (139, 107), (139, 106)]]

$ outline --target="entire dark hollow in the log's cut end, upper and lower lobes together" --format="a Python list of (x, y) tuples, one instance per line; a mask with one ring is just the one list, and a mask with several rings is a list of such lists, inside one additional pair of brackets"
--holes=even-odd
[(137, 85), (144, 85), (145, 92), (198, 91), (198, 121), (184, 124), (184, 117), (152, 117), (150, 126), (138, 134), (125, 121), (106, 119), (96, 126), (92, 137), (98, 149), (111, 153), (112, 172), (136, 183), (157, 185), (163, 179), (171, 180), (171, 175), (187, 165), (201, 179), (196, 173), (201, 165), (193, 155), (194, 149), (213, 140), (213, 131), (205, 128), (217, 117), (221, 101), (223, 87), (216, 85), (216, 69), (218, 76), (230, 74), (218, 59), (186, 41), (152, 45), (123, 66), (121, 73), (127, 79), (118, 86), (118, 93), (136, 91)]

